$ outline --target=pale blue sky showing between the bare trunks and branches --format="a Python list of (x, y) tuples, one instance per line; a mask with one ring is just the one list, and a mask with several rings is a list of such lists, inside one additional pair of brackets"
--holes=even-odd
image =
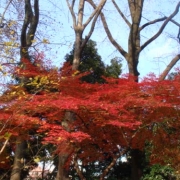
[[(5, 0), (0, 1), (0, 6), (4, 5), (3, 1), (5, 2)], [(119, 3), (123, 13), (130, 18), (127, 0), (116, 0), (116, 2)], [(146, 23), (148, 20), (157, 19), (164, 15), (168, 16), (174, 11), (178, 2), (179, 0), (145, 0), (142, 22)], [(47, 38), (50, 41), (50, 44), (47, 45), (46, 50), (41, 48), (41, 46), (38, 50), (45, 51), (47, 57), (49, 57), (55, 65), (59, 66), (63, 63), (64, 56), (72, 49), (74, 42), (75, 35), (72, 29), (71, 15), (65, 0), (40, 0), (40, 9), (42, 14), (41, 20), (43, 20), (45, 24), (41, 24), (39, 30), (44, 38)], [(90, 14), (90, 10), (90, 7), (86, 8), (85, 18)], [(104, 13), (114, 38), (126, 50), (128, 27), (118, 15), (117, 11), (114, 10), (111, 0), (107, 0), (107, 4), (104, 7)], [(175, 20), (178, 21), (179, 19), (180, 13), (176, 16)], [(141, 40), (145, 42), (148, 38), (153, 36), (160, 25), (161, 23), (158, 23), (144, 29)], [(164, 33), (142, 51), (138, 66), (141, 74), (140, 77), (143, 77), (150, 72), (159, 75), (164, 70), (168, 62), (170, 62), (175, 54), (179, 52), (178, 43), (169, 37), (176, 37), (177, 33), (178, 28), (170, 23), (164, 30)], [(84, 32), (84, 36), (86, 34), (87, 30)], [(105, 64), (108, 64), (114, 57), (122, 57), (109, 42), (100, 19), (98, 19), (96, 23), (96, 28), (91, 39), (97, 42), (98, 52)], [(123, 60), (123, 73), (127, 72), (127, 65), (125, 60)]]

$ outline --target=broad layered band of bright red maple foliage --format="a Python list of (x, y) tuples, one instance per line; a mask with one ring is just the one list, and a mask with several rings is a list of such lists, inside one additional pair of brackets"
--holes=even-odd
[[(34, 128), (44, 133), (44, 143), (57, 146), (57, 152), (63, 153), (64, 144), (78, 147), (84, 162), (102, 160), (105, 152), (111, 155), (119, 148), (143, 149), (147, 141), (152, 143), (155, 162), (160, 150), (173, 150), (179, 143), (178, 78), (158, 82), (153, 77), (141, 83), (107, 78), (106, 84), (88, 84), (79, 80), (82, 75), (64, 69), (60, 73), (38, 68), (31, 71), (26, 77), (37, 73), (48, 81), (39, 85), (38, 93), (24, 89), (24, 94), (18, 94), (22, 88), (14, 86), (9, 92), (16, 93), (2, 96), (1, 104), (6, 105), (0, 124), (6, 123), (6, 128), (1, 134), (13, 134), (15, 129), (14, 135), (19, 135)], [(75, 115), (68, 124), (70, 131), (61, 126), (66, 111)]]

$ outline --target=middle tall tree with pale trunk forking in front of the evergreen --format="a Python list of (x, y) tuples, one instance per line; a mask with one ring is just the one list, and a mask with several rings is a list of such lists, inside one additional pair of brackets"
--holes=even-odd
[[(75, 3), (77, 3), (77, 1), (72, 0), (72, 3), (70, 3), (69, 0), (66, 0), (66, 2), (68, 5), (68, 8), (70, 10), (71, 16), (72, 16), (73, 29), (75, 32), (75, 48), (74, 48), (74, 58), (73, 58), (72, 69), (78, 70), (82, 51), (94, 31), (95, 23), (97, 21), (97, 18), (99, 16), (104, 4), (106, 3), (106, 0), (100, 1), (99, 5), (91, 13), (89, 18), (85, 21), (85, 23), (83, 22), (83, 18), (84, 18), (84, 14), (85, 14), (85, 11), (84, 11), (85, 0), (79, 1), (78, 6), (77, 6), (78, 7), (77, 16), (74, 11), (74, 5), (75, 5)], [(91, 21), (92, 21), (92, 24), (91, 24), (90, 31), (83, 41), (83, 32), (84, 32), (85, 28), (87, 27), (87, 25), (90, 24)], [(74, 121), (73, 117), (74, 117), (74, 115), (72, 114), (72, 112), (66, 112), (65, 118), (64, 118), (64, 124), (66, 124), (64, 126), (65, 129), (69, 129), (69, 127), (68, 127), (69, 124)], [(67, 154), (67, 153), (59, 156), (59, 167), (58, 167), (58, 173), (57, 173), (57, 177), (56, 177), (57, 180), (69, 179), (68, 173), (65, 171), (65, 169), (63, 167), (65, 162), (67, 161), (68, 156), (69, 156), (69, 154)], [(62, 169), (64, 169), (64, 172), (62, 171)]]

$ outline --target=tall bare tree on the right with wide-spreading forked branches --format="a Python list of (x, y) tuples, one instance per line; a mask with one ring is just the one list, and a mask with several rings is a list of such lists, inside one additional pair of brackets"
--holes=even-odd
[[(92, 0), (87, 0), (94, 8), (96, 8), (96, 5)], [(180, 2), (177, 3), (174, 12), (170, 14), (168, 17), (160, 17), (157, 19), (154, 19), (152, 21), (149, 21), (145, 24), (142, 24), (142, 16), (143, 16), (143, 7), (144, 7), (144, 0), (127, 0), (127, 4), (130, 11), (130, 17), (131, 20), (129, 20), (122, 12), (121, 8), (118, 6), (115, 0), (112, 0), (112, 3), (117, 10), (119, 16), (124, 20), (124, 22), (129, 27), (129, 38), (128, 38), (128, 48), (125, 50), (121, 44), (118, 43), (115, 38), (113, 38), (113, 34), (111, 33), (111, 30), (107, 24), (106, 18), (103, 13), (101, 13), (101, 20), (105, 29), (105, 32), (110, 40), (110, 42), (113, 44), (113, 46), (119, 51), (119, 53), (126, 59), (128, 64), (129, 73), (133, 76), (138, 77), (139, 71), (138, 71), (138, 63), (139, 63), (139, 55), (140, 53), (153, 41), (155, 41), (163, 32), (165, 27), (168, 23), (173, 22), (174, 25), (179, 26), (179, 23), (173, 20), (173, 18), (178, 14)], [(146, 42), (141, 42), (141, 32), (146, 27), (150, 25), (157, 24), (158, 22), (163, 22), (157, 31), (152, 37), (150, 37)], [(179, 26), (180, 27), (180, 26)], [(177, 55), (175, 60), (179, 60), (179, 55)], [(175, 61), (175, 60), (172, 61)], [(177, 61), (176, 60), (176, 61)], [(169, 66), (170, 67), (170, 66)], [(161, 79), (165, 78), (165, 73), (162, 74)]]

